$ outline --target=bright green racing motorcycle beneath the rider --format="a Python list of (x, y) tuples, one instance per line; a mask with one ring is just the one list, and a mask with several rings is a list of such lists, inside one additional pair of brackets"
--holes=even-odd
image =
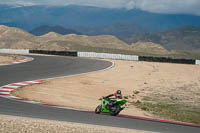
[(110, 113), (113, 116), (118, 115), (120, 111), (122, 111), (125, 108), (122, 106), (125, 105), (125, 103), (127, 102), (125, 99), (110, 98), (109, 103), (109, 101), (105, 97), (102, 97), (100, 100), (101, 104), (96, 107), (95, 113)]

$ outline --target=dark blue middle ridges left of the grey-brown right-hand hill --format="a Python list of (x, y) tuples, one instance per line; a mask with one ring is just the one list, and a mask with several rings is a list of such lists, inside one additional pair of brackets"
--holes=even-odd
[(49, 32), (55, 32), (62, 35), (67, 35), (67, 34), (78, 34), (78, 35), (83, 34), (88, 36), (113, 35), (115, 37), (123, 39), (134, 34), (146, 33), (148, 31), (135, 24), (113, 24), (110, 26), (93, 27), (93, 28), (74, 27), (71, 29), (66, 29), (62, 26), (43, 25), (36, 27), (29, 33), (36, 36), (40, 36)]

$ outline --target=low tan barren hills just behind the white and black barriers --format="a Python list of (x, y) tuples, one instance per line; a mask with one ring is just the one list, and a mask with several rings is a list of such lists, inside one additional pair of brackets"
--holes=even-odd
[[(49, 32), (42, 36), (34, 36), (18, 28), (0, 26), (0, 48), (154, 54), (154, 51), (148, 50), (152, 45), (154, 44), (145, 45), (145, 48), (144, 45), (141, 45), (140, 49), (140, 45), (132, 47), (112, 35), (61, 35)], [(158, 47), (158, 44), (155, 44), (155, 47)], [(157, 50), (157, 54), (163, 55), (167, 52), (163, 53), (163, 50)]]

